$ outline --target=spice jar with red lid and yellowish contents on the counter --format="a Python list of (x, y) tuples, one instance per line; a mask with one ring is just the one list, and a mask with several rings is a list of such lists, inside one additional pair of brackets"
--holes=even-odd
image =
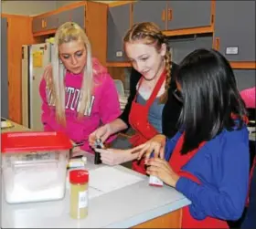
[(70, 209), (69, 214), (74, 219), (85, 218), (88, 214), (88, 181), (89, 172), (74, 170), (69, 172)]

